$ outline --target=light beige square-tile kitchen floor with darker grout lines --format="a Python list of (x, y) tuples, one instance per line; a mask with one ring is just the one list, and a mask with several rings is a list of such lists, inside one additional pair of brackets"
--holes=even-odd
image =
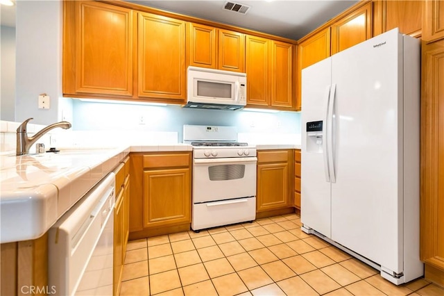
[(316, 236), (296, 214), (128, 242), (121, 295), (436, 295), (401, 286)]

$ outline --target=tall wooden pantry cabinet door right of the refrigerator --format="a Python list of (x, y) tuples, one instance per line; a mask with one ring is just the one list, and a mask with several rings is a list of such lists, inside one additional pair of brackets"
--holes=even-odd
[(444, 285), (444, 39), (422, 42), (420, 258)]

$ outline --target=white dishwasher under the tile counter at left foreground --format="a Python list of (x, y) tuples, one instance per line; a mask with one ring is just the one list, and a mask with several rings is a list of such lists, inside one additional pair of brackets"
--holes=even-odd
[(112, 295), (111, 172), (49, 229), (49, 287), (56, 295)]

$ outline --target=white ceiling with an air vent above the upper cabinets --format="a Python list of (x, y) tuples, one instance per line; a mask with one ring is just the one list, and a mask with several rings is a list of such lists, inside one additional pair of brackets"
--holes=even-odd
[(232, 1), (251, 6), (246, 15), (223, 9), (226, 0), (135, 0), (129, 2), (298, 40), (357, 1)]

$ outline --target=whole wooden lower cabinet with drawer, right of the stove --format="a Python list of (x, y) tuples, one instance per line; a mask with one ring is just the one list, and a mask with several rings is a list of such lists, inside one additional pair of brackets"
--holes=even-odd
[(257, 217), (294, 211), (292, 151), (257, 151)]

